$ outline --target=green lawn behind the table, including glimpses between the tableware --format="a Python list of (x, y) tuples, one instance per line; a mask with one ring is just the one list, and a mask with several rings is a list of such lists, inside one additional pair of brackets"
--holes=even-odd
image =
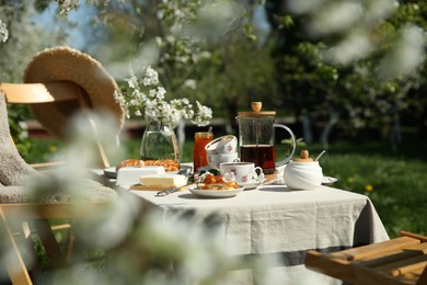
[[(127, 158), (138, 158), (140, 139), (125, 144)], [(50, 140), (38, 140), (30, 161), (39, 161), (43, 153), (60, 148)], [(188, 140), (182, 161), (192, 161), (194, 142)], [(388, 141), (336, 141), (320, 160), (324, 175), (334, 176), (334, 187), (369, 196), (391, 238), (399, 230), (427, 235), (427, 144), (408, 141), (392, 151)], [(323, 150), (309, 145), (311, 157)], [(297, 149), (299, 153), (301, 148)], [(278, 146), (277, 159), (286, 157), (285, 146)], [(45, 156), (46, 157), (46, 156)]]

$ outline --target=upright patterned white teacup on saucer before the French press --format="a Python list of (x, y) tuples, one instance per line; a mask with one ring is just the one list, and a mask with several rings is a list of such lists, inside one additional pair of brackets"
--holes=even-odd
[[(219, 170), (222, 175), (227, 173), (233, 173), (238, 184), (250, 183), (254, 180), (263, 180), (263, 169), (255, 168), (253, 162), (227, 162), (219, 166)], [(259, 171), (259, 174), (256, 171)]]

